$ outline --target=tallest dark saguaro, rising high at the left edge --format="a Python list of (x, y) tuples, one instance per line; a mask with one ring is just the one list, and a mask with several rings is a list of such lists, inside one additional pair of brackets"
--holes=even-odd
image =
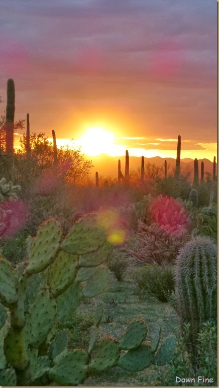
[(15, 120), (15, 82), (12, 78), (7, 82), (6, 106), (6, 152), (14, 153), (14, 120)]

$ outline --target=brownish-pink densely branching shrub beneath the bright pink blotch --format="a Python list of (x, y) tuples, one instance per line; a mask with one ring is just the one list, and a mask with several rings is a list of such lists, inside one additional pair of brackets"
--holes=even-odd
[(184, 229), (175, 235), (167, 233), (157, 224), (147, 226), (140, 221), (135, 243), (132, 241), (132, 248), (127, 245), (124, 249), (136, 261), (161, 265), (173, 263), (180, 247), (189, 239)]

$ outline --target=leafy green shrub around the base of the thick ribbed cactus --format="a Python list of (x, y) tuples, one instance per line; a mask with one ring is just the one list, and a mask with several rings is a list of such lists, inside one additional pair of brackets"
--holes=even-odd
[[(176, 335), (177, 345), (175, 356), (165, 369), (157, 369), (157, 380), (162, 386), (206, 386), (217, 385), (217, 335), (216, 325), (212, 322), (203, 324), (198, 335), (197, 351), (199, 355), (198, 370), (192, 368), (191, 356), (187, 353), (186, 343), (189, 335), (189, 324), (183, 326), (181, 335)], [(195, 382), (176, 382), (176, 376), (194, 377)], [(213, 378), (213, 383), (197, 381), (197, 376)]]

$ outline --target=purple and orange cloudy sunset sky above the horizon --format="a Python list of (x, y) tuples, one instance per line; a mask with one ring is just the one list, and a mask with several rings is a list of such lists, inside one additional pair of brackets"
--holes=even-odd
[(175, 158), (181, 135), (182, 158), (212, 161), (216, 7), (215, 0), (1, 0), (0, 114), (13, 78), (15, 119), (29, 113), (31, 132), (51, 138), (54, 129), (58, 145), (73, 138), (91, 156), (128, 149)]

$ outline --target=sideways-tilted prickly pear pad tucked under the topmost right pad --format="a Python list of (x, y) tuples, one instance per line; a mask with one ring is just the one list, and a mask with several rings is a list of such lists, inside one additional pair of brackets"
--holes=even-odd
[(107, 260), (108, 255), (113, 251), (113, 244), (105, 242), (95, 252), (86, 253), (79, 258), (81, 267), (95, 267)]

